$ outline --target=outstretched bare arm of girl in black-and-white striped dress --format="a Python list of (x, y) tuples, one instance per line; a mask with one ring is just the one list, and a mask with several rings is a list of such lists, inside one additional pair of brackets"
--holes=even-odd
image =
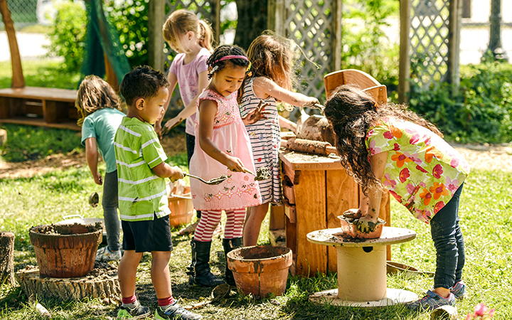
[(308, 97), (299, 92), (292, 92), (279, 87), (276, 82), (266, 77), (258, 77), (252, 85), (257, 97), (266, 99), (269, 95), (295, 107), (309, 107), (315, 103), (319, 103), (316, 97)]

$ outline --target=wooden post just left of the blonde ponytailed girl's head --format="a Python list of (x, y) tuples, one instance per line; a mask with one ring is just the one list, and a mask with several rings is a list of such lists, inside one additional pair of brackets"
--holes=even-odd
[(164, 72), (164, 26), (165, 0), (149, 1), (148, 12), (148, 53), (149, 65), (156, 70)]

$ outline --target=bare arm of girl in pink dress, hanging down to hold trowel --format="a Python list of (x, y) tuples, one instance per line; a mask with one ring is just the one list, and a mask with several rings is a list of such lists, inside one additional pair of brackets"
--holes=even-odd
[(213, 143), (213, 120), (217, 113), (217, 104), (213, 100), (202, 100), (199, 104), (199, 146), (213, 159), (224, 164), (233, 172), (244, 172), (242, 161), (235, 156), (229, 156), (218, 149)]

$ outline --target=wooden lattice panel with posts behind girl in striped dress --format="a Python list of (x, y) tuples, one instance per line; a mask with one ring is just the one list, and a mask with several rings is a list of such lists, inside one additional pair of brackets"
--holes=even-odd
[(324, 75), (341, 68), (341, 3), (269, 0), (269, 28), (295, 41), (304, 53), (297, 61), (304, 95), (322, 97)]

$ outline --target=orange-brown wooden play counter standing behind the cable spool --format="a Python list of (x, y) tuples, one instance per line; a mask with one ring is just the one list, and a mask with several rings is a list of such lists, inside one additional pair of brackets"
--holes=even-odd
[[(281, 149), (286, 245), (294, 253), (292, 274), (305, 277), (316, 272), (336, 272), (334, 247), (315, 245), (306, 240), (312, 231), (340, 226), (338, 215), (358, 208), (361, 190), (346, 174), (338, 156), (300, 154)], [(390, 225), (389, 193), (383, 194), (380, 218)], [(388, 260), (390, 250), (388, 249)]]

